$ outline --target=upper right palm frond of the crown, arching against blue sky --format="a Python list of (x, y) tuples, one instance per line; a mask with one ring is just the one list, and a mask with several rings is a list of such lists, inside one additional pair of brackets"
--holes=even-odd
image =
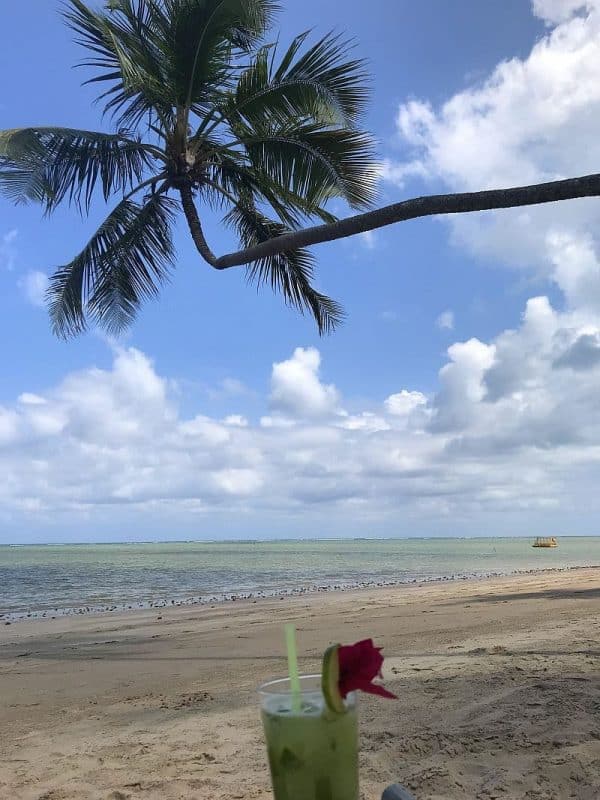
[(351, 43), (333, 34), (296, 58), (307, 33), (293, 40), (277, 67), (276, 49), (257, 52), (227, 98), (227, 115), (239, 115), (250, 125), (272, 119), (285, 124), (294, 117), (355, 125), (369, 97), (364, 62), (348, 60)]

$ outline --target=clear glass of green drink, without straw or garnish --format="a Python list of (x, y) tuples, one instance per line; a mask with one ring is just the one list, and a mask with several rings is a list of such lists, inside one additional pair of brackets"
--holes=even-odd
[(287, 679), (259, 689), (275, 800), (358, 800), (356, 698), (327, 709), (321, 676), (300, 678), (299, 709)]

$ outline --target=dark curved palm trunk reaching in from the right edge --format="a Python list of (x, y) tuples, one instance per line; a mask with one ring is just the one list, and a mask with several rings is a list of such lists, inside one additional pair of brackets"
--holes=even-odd
[[(189, 194), (191, 201), (191, 191)], [(196, 232), (195, 234), (187, 211), (186, 216), (188, 216), (192, 236), (200, 237), (198, 241), (194, 238), (194, 241), (203, 257), (215, 269), (228, 269), (229, 267), (248, 264), (259, 258), (273, 256), (286, 250), (295, 250), (297, 247), (308, 247), (321, 242), (343, 239), (346, 236), (354, 236), (357, 233), (383, 228), (386, 225), (393, 225), (395, 222), (416, 219), (417, 217), (531, 206), (541, 203), (553, 203), (557, 200), (572, 200), (577, 197), (595, 197), (598, 195), (600, 195), (600, 174), (584, 175), (581, 178), (569, 178), (564, 181), (538, 183), (533, 186), (518, 186), (512, 189), (492, 189), (485, 192), (416, 197), (412, 200), (403, 200), (400, 203), (384, 206), (374, 211), (367, 211), (364, 214), (346, 217), (329, 225), (315, 225), (312, 228), (286, 233), (283, 236), (277, 236), (261, 244), (248, 247), (245, 250), (238, 250), (236, 253), (229, 253), (220, 258), (216, 258), (208, 248), (200, 228), (200, 221), (198, 220), (197, 223), (199, 233)], [(193, 202), (191, 202), (191, 205), (195, 213), (196, 209)], [(196, 219), (198, 219), (197, 214)], [(200, 240), (203, 249), (200, 247)], [(203, 251), (207, 251), (212, 260), (207, 258)]]

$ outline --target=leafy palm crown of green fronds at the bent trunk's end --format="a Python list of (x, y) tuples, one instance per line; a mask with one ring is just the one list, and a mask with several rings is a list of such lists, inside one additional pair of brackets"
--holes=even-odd
[[(175, 260), (182, 210), (208, 264), (216, 257), (202, 210), (219, 211), (243, 248), (335, 221), (332, 198), (374, 198), (370, 136), (358, 127), (368, 91), (349, 43), (303, 33), (284, 51), (266, 42), (272, 0), (112, 0), (102, 10), (66, 0), (64, 17), (95, 70), (114, 132), (20, 128), (0, 132), (0, 191), (16, 202), (84, 212), (100, 191), (115, 205), (75, 258), (51, 278), (58, 335), (91, 319), (118, 332), (155, 295)], [(200, 209), (200, 210), (199, 210)], [(320, 332), (343, 317), (312, 285), (304, 248), (254, 261), (248, 277), (311, 313)]]

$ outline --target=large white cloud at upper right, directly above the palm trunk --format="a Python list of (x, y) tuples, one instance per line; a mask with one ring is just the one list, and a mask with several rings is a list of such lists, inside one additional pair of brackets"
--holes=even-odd
[(592, 171), (600, 149), (599, 28), (596, 11), (570, 19), (526, 59), (502, 62), (482, 86), (439, 109), (424, 100), (403, 104), (397, 123), (414, 148), (410, 163), (418, 159), (426, 174), (466, 190)]

